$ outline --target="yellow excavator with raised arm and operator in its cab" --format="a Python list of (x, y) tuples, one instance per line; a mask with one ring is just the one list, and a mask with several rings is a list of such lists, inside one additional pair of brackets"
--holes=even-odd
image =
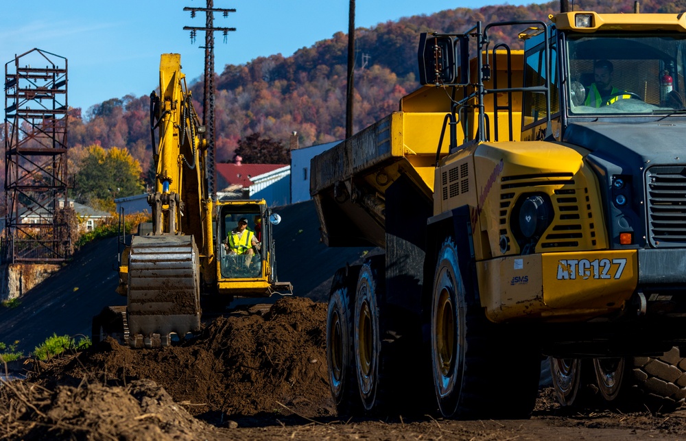
[[(150, 95), (152, 225), (139, 228), (121, 253), (117, 292), (127, 305), (93, 318), (93, 342), (110, 336), (134, 348), (169, 346), (171, 335), (200, 330), (201, 297), (217, 307), (235, 297), (292, 294), (292, 285), (276, 278), (272, 224), (279, 215), (264, 200), (213, 202), (205, 130), (180, 62), (178, 53), (162, 54), (160, 95)], [(228, 238), (239, 224), (247, 233), (237, 250)]]

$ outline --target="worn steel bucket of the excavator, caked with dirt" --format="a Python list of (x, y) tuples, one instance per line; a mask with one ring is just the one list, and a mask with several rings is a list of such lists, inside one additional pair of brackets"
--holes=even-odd
[(134, 236), (128, 265), (129, 344), (169, 346), (200, 329), (200, 274), (193, 236)]

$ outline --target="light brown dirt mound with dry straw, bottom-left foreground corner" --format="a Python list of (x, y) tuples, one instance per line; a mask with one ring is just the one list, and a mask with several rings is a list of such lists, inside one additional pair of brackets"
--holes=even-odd
[(126, 388), (97, 383), (54, 390), (26, 382), (3, 385), (3, 439), (221, 439), (217, 429), (193, 418), (153, 381)]

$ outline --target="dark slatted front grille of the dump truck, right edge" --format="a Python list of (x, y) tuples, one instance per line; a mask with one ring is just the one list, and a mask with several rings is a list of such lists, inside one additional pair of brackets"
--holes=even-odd
[(650, 245), (686, 246), (686, 167), (650, 167), (646, 195)]

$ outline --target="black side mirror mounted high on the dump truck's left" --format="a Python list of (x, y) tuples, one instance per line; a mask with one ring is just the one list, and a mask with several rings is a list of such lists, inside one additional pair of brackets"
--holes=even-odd
[(451, 36), (422, 32), (417, 58), (421, 84), (451, 84), (455, 80), (455, 46)]

